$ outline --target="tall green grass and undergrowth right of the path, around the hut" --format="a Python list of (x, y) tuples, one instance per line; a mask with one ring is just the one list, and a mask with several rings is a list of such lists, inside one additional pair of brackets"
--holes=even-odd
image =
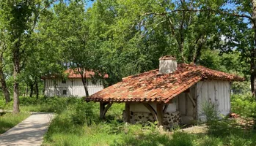
[[(255, 101), (249, 96), (233, 96), (232, 106), (233, 111), (241, 114), (243, 118), (254, 119), (255, 114), (252, 112), (255, 112)], [(220, 120), (208, 126), (206, 133), (189, 134), (181, 131), (161, 131), (153, 123), (146, 126), (123, 123), (123, 104), (113, 104), (105, 120), (99, 119), (98, 103), (87, 103), (75, 98), (21, 98), (21, 110), (57, 113), (45, 134), (44, 146), (256, 145), (256, 131), (253, 126), (241, 126), (236, 120)]]

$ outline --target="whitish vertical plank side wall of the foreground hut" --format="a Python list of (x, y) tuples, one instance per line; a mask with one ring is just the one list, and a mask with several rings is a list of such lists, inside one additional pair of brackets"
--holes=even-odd
[(205, 119), (202, 107), (206, 102), (218, 105), (222, 115), (230, 113), (230, 82), (209, 80), (197, 82), (197, 113), (200, 120)]

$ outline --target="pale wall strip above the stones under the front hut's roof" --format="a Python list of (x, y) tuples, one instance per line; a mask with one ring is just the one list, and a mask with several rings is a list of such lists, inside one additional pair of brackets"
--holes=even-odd
[[(156, 103), (150, 103), (150, 105), (156, 111)], [(131, 112), (150, 112), (149, 110), (147, 110), (147, 107), (145, 107), (142, 103), (130, 104), (130, 110)], [(176, 104), (169, 104), (167, 112), (176, 112)]]

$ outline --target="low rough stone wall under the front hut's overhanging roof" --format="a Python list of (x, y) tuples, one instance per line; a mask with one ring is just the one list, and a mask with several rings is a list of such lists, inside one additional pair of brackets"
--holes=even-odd
[[(122, 118), (125, 120), (125, 111), (122, 111)], [(147, 123), (147, 121), (155, 122), (153, 115), (150, 112), (131, 112), (131, 123)], [(180, 112), (166, 112), (164, 114), (164, 128), (171, 128), (180, 124)]]

